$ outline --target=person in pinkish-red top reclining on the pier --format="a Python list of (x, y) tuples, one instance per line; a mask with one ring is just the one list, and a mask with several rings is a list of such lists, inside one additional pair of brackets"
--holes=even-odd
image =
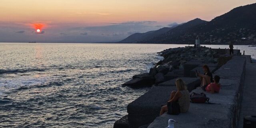
[(219, 93), (220, 91), (220, 77), (218, 75), (213, 78), (214, 83), (210, 83), (205, 90), (210, 93)]

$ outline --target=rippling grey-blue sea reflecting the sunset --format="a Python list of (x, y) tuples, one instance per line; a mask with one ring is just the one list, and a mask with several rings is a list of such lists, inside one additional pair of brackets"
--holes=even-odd
[[(1, 128), (113, 128), (150, 90), (122, 84), (178, 44), (0, 43)], [(228, 48), (228, 45), (205, 45)], [(256, 47), (234, 45), (256, 59)]]

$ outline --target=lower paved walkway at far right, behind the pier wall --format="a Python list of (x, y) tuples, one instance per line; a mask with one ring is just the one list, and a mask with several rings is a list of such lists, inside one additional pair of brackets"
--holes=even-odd
[(244, 116), (256, 115), (256, 63), (250, 63), (246, 57), (246, 69), (240, 116), (237, 128), (243, 128)]

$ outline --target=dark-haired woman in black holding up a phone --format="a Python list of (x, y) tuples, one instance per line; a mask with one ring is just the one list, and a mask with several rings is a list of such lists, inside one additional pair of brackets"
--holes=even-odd
[(207, 87), (207, 85), (209, 85), (210, 83), (213, 83), (214, 81), (212, 79), (212, 73), (208, 65), (203, 65), (203, 71), (204, 71), (204, 75), (196, 71), (196, 77), (200, 77), (200, 81), (201, 81), (200, 87), (204, 91), (206, 91), (205, 88)]

